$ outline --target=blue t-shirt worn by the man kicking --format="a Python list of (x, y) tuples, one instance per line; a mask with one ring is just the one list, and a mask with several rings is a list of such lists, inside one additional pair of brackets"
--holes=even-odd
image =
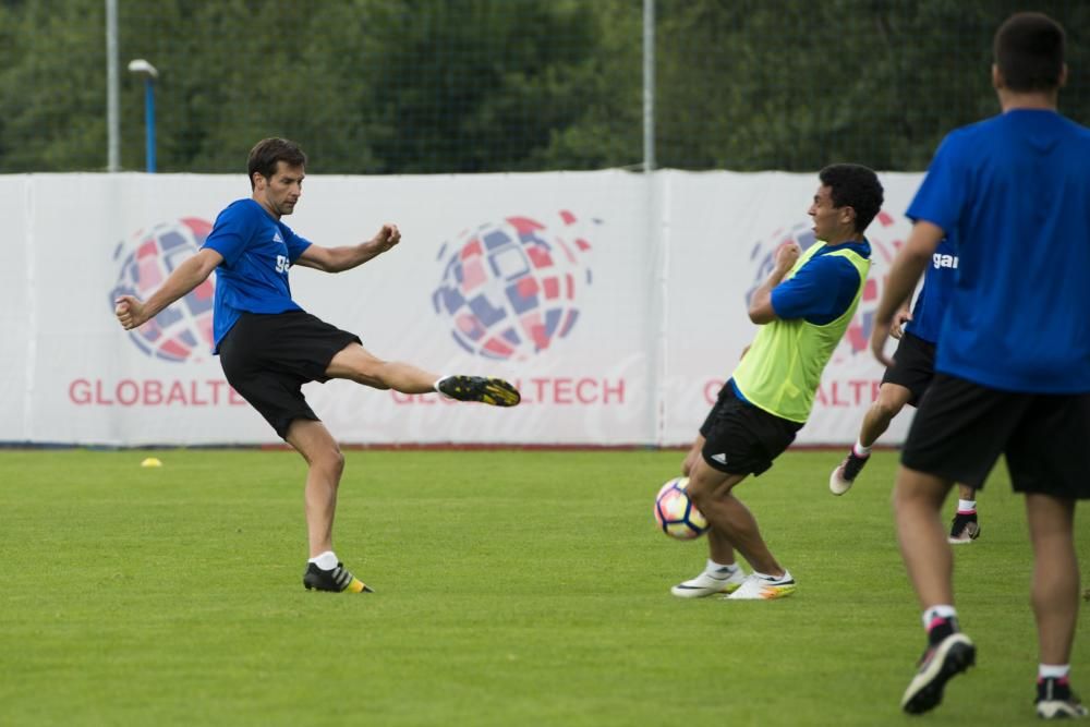
[(288, 268), (311, 243), (255, 201), (232, 202), (216, 218), (204, 246), (223, 256), (216, 268), (214, 352), (242, 312), (302, 310), (291, 300)]

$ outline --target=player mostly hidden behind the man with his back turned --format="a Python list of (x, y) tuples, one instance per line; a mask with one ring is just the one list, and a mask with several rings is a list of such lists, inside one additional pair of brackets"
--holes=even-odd
[[(879, 397), (863, 416), (859, 439), (844, 461), (833, 470), (828, 488), (834, 495), (844, 495), (870, 460), (871, 447), (889, 428), (889, 422), (905, 404), (919, 407), (931, 379), (935, 376), (935, 341), (943, 311), (949, 301), (957, 278), (957, 247), (944, 238), (938, 243), (931, 265), (923, 277), (923, 288), (916, 300), (912, 313), (903, 308), (897, 313), (891, 336), (899, 340), (893, 366), (885, 369)], [(958, 485), (960, 499), (954, 522), (950, 524), (950, 543), (971, 543), (980, 536), (977, 520), (977, 492), (968, 485)]]

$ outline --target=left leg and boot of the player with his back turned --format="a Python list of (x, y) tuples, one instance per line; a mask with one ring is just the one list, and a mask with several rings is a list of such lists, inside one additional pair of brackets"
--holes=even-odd
[(937, 706), (946, 682), (972, 666), (977, 657), (977, 647), (958, 627), (954, 609), (954, 556), (940, 519), (952, 485), (901, 465), (894, 486), (897, 540), (908, 577), (923, 607), (923, 628), (928, 631), (928, 647), (900, 702), (901, 708), (910, 714)]

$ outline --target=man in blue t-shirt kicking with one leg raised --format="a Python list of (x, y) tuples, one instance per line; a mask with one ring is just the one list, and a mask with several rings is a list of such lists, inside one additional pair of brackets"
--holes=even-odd
[(196, 255), (183, 262), (146, 302), (117, 300), (117, 316), (131, 330), (154, 318), (216, 271), (215, 352), (230, 385), (307, 463), (305, 510), (310, 559), (307, 590), (370, 592), (332, 549), (334, 513), (344, 457), (303, 398), (307, 381), (344, 378), (376, 389), (439, 393), (496, 407), (519, 403), (518, 390), (499, 378), (444, 376), (408, 363), (383, 361), (354, 334), (305, 313), (291, 298), (288, 270), (303, 265), (340, 272), (386, 253), (401, 241), (395, 225), (356, 245), (323, 247), (281, 221), (302, 194), (306, 155), (283, 138), (266, 138), (250, 153), (252, 195), (231, 203)]

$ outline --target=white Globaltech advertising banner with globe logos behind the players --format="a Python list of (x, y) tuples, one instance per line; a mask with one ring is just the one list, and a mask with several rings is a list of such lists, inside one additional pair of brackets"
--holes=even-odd
[[(919, 175), (882, 181), (867, 292), (800, 443), (851, 441), (881, 378), (870, 320)], [(748, 294), (772, 251), (812, 242), (816, 186), (816, 175), (775, 172), (308, 177), (284, 218), (296, 233), (341, 245), (396, 222), (402, 242), (336, 276), (294, 268), (296, 302), (379, 358), (509, 378), (523, 403), (348, 381), (310, 384), (307, 400), (346, 444), (690, 441), (754, 334)], [(249, 194), (244, 174), (0, 178), (0, 441), (279, 441), (211, 355), (215, 276), (138, 331), (113, 317), (117, 294), (155, 290)]]

